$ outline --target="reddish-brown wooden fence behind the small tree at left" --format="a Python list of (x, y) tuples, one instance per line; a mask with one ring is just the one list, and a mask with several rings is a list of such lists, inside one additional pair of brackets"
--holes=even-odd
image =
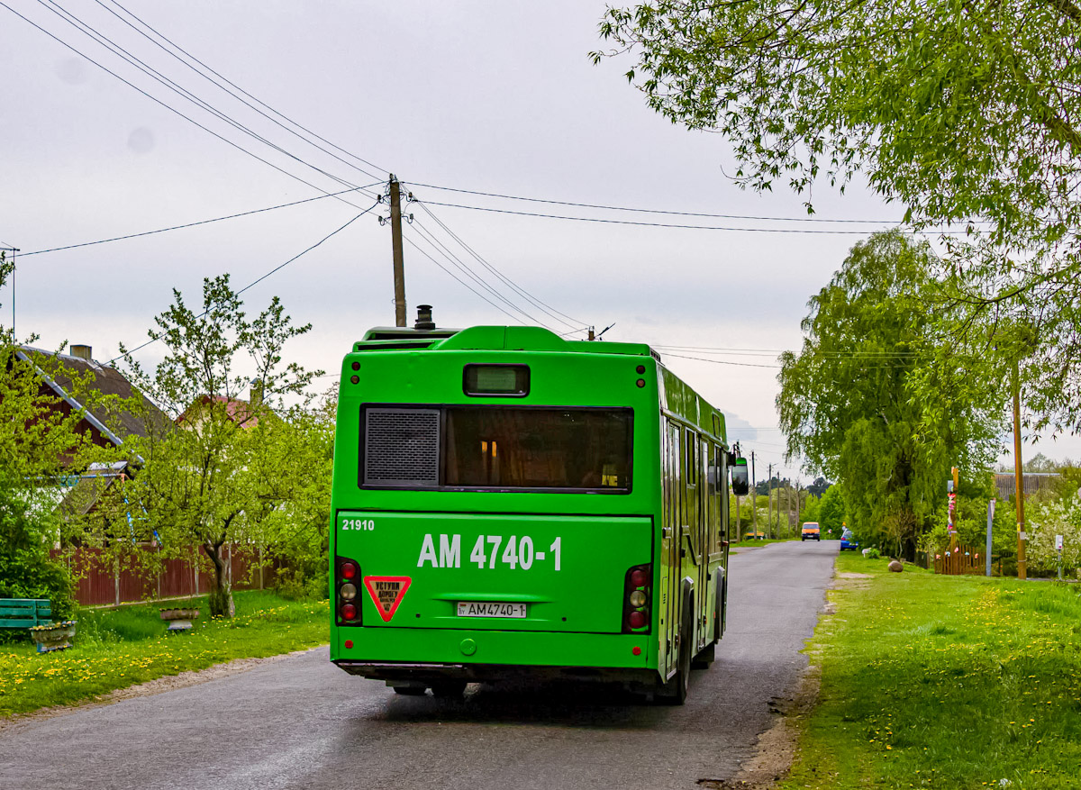
[[(209, 592), (214, 586), (210, 561), (201, 551), (191, 550), (184, 559), (160, 560), (157, 549), (141, 547), (142, 557), (125, 557), (119, 563), (103, 557), (96, 549), (54, 551), (63, 555), (79, 579), (76, 600), (82, 606), (118, 605), (159, 598), (187, 598)], [(232, 589), (252, 590), (271, 587), (277, 564), (258, 566), (257, 550), (249, 546), (232, 546), (225, 550)], [(141, 563), (139, 560), (146, 562)]]

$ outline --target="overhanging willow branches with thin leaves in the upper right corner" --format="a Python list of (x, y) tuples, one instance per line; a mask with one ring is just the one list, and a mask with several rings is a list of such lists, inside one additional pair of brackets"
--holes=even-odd
[[(655, 0), (600, 24), (676, 123), (732, 145), (737, 182), (806, 196), (866, 180), (917, 229), (987, 354), (1036, 327), (1030, 405), (1081, 428), (1081, 9), (1073, 0)], [(1006, 344), (1009, 345), (1009, 344)], [(1013, 360), (1003, 360), (1011, 365)]]

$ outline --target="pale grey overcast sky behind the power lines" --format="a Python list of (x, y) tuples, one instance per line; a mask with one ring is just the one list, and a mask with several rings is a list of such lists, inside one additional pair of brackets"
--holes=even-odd
[[(22, 251), (16, 332), (39, 334), (43, 347), (90, 345), (99, 361), (111, 359), (119, 343), (146, 340), (172, 289), (196, 304), (204, 277), (229, 272), (236, 286), (246, 285), (371, 206), (369, 193), (383, 186), (137, 239), (28, 253), (316, 198), (393, 172), (425, 203), (406, 209), (416, 219), (406, 240), (472, 289), (406, 243), (410, 322), (424, 303), (435, 306), (440, 325), (512, 322), (494, 303), (559, 333), (614, 324), (605, 338), (689, 347), (662, 348), (666, 363), (728, 413), (730, 437), (756, 451), (761, 479), (766, 464), (782, 460), (777, 353), (798, 348), (808, 299), (848, 250), (903, 214), (858, 187), (843, 197), (824, 187), (814, 196), (817, 218), (881, 225), (793, 222), (806, 217), (802, 197), (739, 190), (724, 175), (733, 172), (725, 142), (650, 110), (623, 77), (630, 61), (591, 65), (587, 53), (602, 48), (603, 2), (63, 3), (266, 143), (142, 73), (54, 13), (57, 6), (0, 2), (10, 5), (0, 6), (0, 245)], [(154, 36), (139, 21), (235, 83), (235, 93), (264, 103), (245, 97), (278, 123), (157, 46), (139, 32)], [(435, 186), (779, 219), (631, 214)], [(756, 230), (570, 222), (436, 202)], [(381, 214), (387, 214), (382, 205), (244, 294), (251, 312), (279, 295), (297, 322), (313, 324), (291, 349), (306, 366), (334, 372), (366, 329), (393, 324), (389, 226), (379, 225)], [(449, 231), (549, 310), (505, 285)], [(10, 286), (0, 291), (0, 322), (10, 324)], [(151, 345), (138, 357), (152, 365), (161, 349)], [(1081, 456), (1075, 439), (1038, 448)], [(792, 464), (786, 473), (800, 471)]]

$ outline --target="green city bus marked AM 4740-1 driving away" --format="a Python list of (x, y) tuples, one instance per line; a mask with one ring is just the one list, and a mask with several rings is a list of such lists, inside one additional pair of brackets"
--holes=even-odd
[(649, 346), (372, 330), (342, 367), (331, 660), (399, 694), (568, 678), (681, 704), (724, 632), (730, 468), (746, 493), (724, 416)]

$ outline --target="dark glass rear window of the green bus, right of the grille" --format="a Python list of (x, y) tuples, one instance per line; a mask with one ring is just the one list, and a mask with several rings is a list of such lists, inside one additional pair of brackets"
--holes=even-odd
[(629, 409), (450, 406), (445, 414), (446, 486), (630, 490)]

